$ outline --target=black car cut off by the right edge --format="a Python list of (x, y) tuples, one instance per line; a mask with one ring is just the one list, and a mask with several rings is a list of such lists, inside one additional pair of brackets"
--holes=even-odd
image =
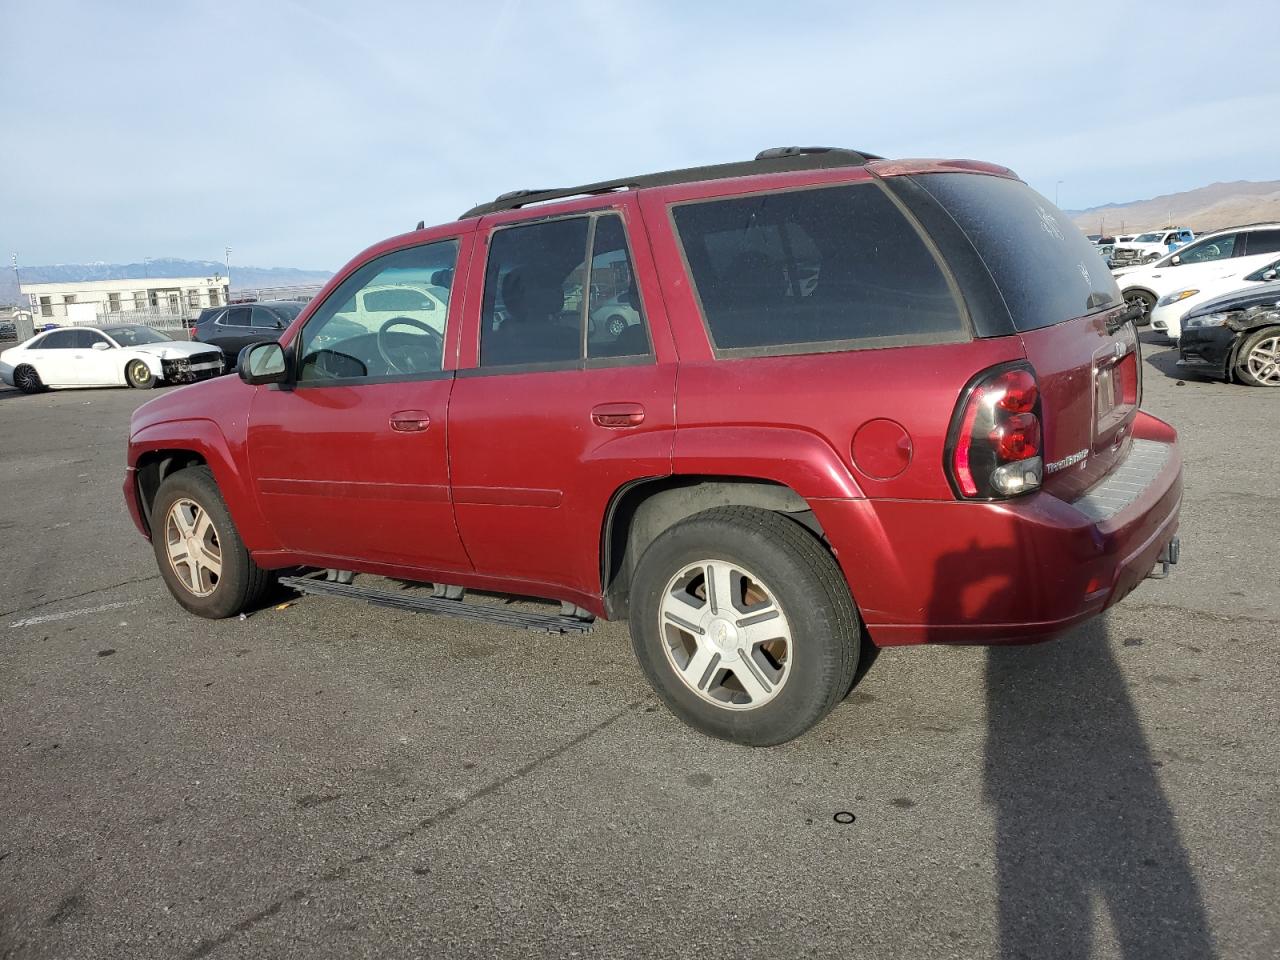
[(1178, 365), (1249, 387), (1280, 387), (1280, 291), (1238, 291), (1189, 311)]

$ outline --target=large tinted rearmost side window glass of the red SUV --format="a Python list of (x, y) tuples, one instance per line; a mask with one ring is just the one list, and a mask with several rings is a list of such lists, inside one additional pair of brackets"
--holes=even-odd
[(938, 261), (874, 183), (672, 209), (717, 353), (968, 339)]

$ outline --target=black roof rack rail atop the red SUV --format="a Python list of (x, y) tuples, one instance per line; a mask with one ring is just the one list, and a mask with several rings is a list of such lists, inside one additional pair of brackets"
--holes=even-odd
[(771, 147), (762, 150), (754, 160), (712, 166), (689, 166), (681, 170), (663, 170), (639, 177), (622, 177), (616, 180), (600, 180), (580, 187), (561, 187), (554, 189), (513, 189), (503, 193), (489, 204), (480, 204), (467, 210), (460, 220), (471, 216), (497, 214), (503, 210), (517, 210), (530, 204), (543, 204), (549, 200), (612, 193), (618, 189), (640, 189), (643, 187), (669, 187), (673, 183), (694, 183), (696, 180), (721, 180), (730, 177), (753, 177), (764, 173), (786, 173), (790, 170), (814, 170), (829, 166), (861, 166), (872, 160), (883, 160), (876, 154), (842, 147)]

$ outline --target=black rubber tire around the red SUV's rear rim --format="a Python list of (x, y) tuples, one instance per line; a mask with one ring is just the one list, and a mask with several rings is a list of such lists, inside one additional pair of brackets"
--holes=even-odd
[[(676, 654), (668, 654), (668, 640), (682, 631), (675, 627), (675, 634), (668, 632), (672, 627), (663, 620), (663, 600), (681, 572), (701, 561), (741, 564), (772, 594), (790, 625), (788, 672), (772, 699), (762, 699), (759, 707), (733, 709), (712, 703), (681, 678), (672, 662)], [(630, 608), (631, 643), (658, 696), (685, 723), (721, 740), (746, 746), (794, 740), (826, 717), (852, 686), (861, 628), (849, 588), (823, 544), (782, 515), (718, 507), (675, 525), (640, 558)], [(744, 625), (740, 621), (737, 626)], [(692, 634), (684, 635), (703, 643)], [(713, 660), (704, 681), (717, 673), (716, 664)]]

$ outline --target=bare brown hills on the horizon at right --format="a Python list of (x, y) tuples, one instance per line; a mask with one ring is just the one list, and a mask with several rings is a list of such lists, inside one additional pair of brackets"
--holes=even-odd
[(1084, 233), (1140, 233), (1190, 227), (1196, 233), (1258, 220), (1280, 220), (1280, 180), (1234, 180), (1128, 204), (1066, 214)]

